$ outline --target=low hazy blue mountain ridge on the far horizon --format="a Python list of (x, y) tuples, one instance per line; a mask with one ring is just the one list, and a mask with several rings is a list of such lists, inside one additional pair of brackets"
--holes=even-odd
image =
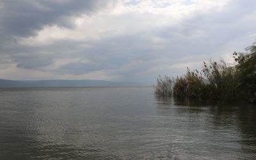
[(16, 81), (0, 79), (0, 87), (77, 87), (77, 86), (138, 86), (139, 83), (100, 80), (38, 80)]

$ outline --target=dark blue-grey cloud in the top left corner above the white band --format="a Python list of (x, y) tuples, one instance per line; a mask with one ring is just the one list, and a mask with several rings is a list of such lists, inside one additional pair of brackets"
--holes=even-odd
[(91, 15), (114, 1), (101, 0), (4, 0), (0, 5), (1, 36), (33, 36), (44, 26), (72, 28), (70, 16)]

